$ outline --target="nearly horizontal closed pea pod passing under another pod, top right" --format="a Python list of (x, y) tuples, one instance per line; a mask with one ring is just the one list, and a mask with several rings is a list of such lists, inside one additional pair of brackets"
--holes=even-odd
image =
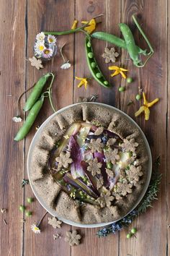
[[(105, 32), (95, 32), (93, 34), (91, 34), (92, 38), (97, 38), (99, 40), (104, 40), (107, 41), (109, 43), (114, 44), (115, 46), (124, 48), (125, 50), (127, 50), (127, 45), (125, 43), (125, 40), (118, 38), (116, 35), (112, 35), (109, 33), (105, 33)], [(138, 54), (143, 54), (143, 55), (147, 55), (146, 54), (146, 50), (141, 49), (140, 47), (136, 46), (138, 49)]]

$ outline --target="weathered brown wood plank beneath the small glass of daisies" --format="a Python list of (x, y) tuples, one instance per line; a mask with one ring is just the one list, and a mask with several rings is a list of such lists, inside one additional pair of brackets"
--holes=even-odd
[[(73, 1), (28, 1), (27, 6), (27, 58), (33, 55), (32, 46), (35, 40), (35, 35), (40, 31), (62, 31), (68, 30), (73, 22), (74, 4)], [(70, 59), (73, 64), (73, 35), (58, 36), (58, 54), (53, 61), (46, 61), (45, 68), (40, 71), (30, 66), (27, 63), (27, 88), (29, 88), (34, 82), (36, 82), (42, 74), (46, 72), (54, 72), (56, 74), (55, 82), (53, 83), (53, 102), (57, 108), (62, 108), (73, 102), (73, 66), (71, 69), (63, 70), (60, 68), (63, 64), (61, 58), (60, 48), (63, 43), (68, 42), (64, 53)], [(50, 108), (49, 102), (46, 100), (40, 115), (35, 121), (30, 134), (26, 139), (26, 159), (27, 150), (30, 146), (33, 135), (35, 135), (35, 127), (42, 124), (45, 119), (53, 114)], [(27, 174), (26, 174), (27, 176)], [(32, 191), (27, 187), (25, 192), (25, 200), (32, 195)], [(27, 219), (25, 223), (24, 233), (24, 255), (70, 255), (70, 247), (64, 242), (64, 236), (69, 226), (63, 225), (62, 231), (55, 230), (52, 226), (48, 225), (48, 216), (45, 216), (45, 220), (42, 223), (42, 234), (36, 236), (30, 231), (30, 226), (36, 223), (45, 212), (42, 206), (35, 202), (30, 205), (33, 208), (33, 216)], [(53, 240), (53, 234), (61, 234), (62, 238)]]

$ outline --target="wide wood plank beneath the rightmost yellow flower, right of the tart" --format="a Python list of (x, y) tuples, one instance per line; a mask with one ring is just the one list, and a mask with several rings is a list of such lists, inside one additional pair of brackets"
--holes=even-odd
[[(131, 61), (122, 62), (125, 67), (128, 67), (129, 74), (134, 76), (135, 81), (122, 95), (121, 108), (134, 118), (134, 112), (138, 110), (139, 103), (132, 108), (127, 108), (127, 102), (131, 95), (135, 98), (138, 86), (143, 88), (150, 101), (157, 97), (161, 99), (160, 103), (151, 109), (149, 121), (144, 121), (143, 116), (135, 121), (140, 124), (146, 134), (151, 146), (153, 161), (158, 155), (161, 156), (163, 178), (158, 202), (154, 202), (154, 208), (140, 216), (132, 225), (138, 228), (137, 239), (126, 239), (128, 231), (120, 233), (120, 256), (128, 255), (128, 253), (138, 256), (166, 255), (166, 1), (122, 2), (122, 22), (128, 22), (131, 25), (137, 38), (138, 33), (131, 22), (133, 13), (138, 13), (138, 20), (151, 40), (155, 54), (143, 69), (133, 67)], [(144, 45), (140, 35), (140, 46)], [(127, 54), (123, 54), (122, 59), (127, 56)]]

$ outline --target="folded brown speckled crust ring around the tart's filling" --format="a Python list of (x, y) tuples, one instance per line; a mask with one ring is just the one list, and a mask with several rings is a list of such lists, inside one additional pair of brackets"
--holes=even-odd
[[(143, 176), (140, 177), (138, 186), (133, 193), (117, 200), (116, 205), (106, 208), (84, 204), (71, 199), (61, 188), (53, 182), (45, 171), (50, 150), (55, 143), (63, 137), (66, 129), (76, 121), (89, 121), (115, 132), (122, 139), (134, 138), (139, 146), (136, 148), (138, 163), (142, 166)], [(130, 122), (126, 116), (107, 106), (99, 106), (95, 103), (79, 103), (67, 108), (60, 114), (56, 114), (43, 129), (40, 140), (32, 152), (30, 179), (37, 193), (43, 198), (48, 207), (56, 211), (58, 217), (84, 224), (94, 224), (115, 221), (129, 212), (143, 191), (148, 174), (148, 155), (143, 137), (138, 127)]]

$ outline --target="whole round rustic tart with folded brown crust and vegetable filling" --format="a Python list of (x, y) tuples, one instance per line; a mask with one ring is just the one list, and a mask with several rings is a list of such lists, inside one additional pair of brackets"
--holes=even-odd
[(35, 189), (58, 217), (116, 221), (138, 201), (148, 153), (138, 127), (98, 103), (73, 105), (50, 119), (32, 152)]

